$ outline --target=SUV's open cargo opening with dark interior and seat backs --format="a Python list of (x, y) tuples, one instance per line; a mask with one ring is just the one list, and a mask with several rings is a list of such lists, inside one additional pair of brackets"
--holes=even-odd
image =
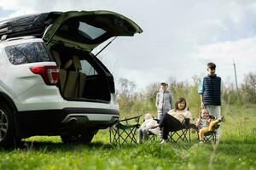
[(65, 99), (109, 103), (114, 93), (113, 76), (99, 59), (60, 45), (49, 50), (60, 68), (59, 88)]

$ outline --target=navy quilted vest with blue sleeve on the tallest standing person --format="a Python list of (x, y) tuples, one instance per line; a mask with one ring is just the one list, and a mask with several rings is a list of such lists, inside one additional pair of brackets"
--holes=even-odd
[(221, 78), (216, 75), (204, 77), (198, 88), (204, 105), (221, 105)]

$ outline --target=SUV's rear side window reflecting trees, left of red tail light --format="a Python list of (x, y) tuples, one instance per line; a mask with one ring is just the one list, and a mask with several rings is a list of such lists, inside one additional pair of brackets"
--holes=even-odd
[(22, 65), (26, 63), (37, 63), (52, 61), (44, 42), (30, 42), (18, 45), (12, 45), (5, 48), (9, 61), (13, 65)]

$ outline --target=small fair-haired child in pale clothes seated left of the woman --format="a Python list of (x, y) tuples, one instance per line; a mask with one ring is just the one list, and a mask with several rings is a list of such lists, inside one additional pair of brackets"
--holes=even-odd
[(139, 144), (143, 143), (143, 136), (144, 136), (145, 141), (148, 140), (149, 133), (154, 133), (155, 135), (160, 135), (160, 127), (152, 128), (155, 125), (157, 125), (158, 123), (157, 123), (157, 121), (155, 121), (153, 119), (153, 116), (150, 113), (145, 114), (144, 120), (145, 121), (143, 122), (142, 126), (137, 130), (138, 135), (139, 135), (139, 139), (138, 139)]

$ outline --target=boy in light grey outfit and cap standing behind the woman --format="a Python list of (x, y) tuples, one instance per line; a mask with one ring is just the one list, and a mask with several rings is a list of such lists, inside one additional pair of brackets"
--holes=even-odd
[(160, 120), (164, 117), (168, 111), (173, 108), (172, 105), (172, 93), (167, 90), (168, 83), (162, 81), (160, 83), (160, 92), (156, 94), (155, 106), (157, 107), (157, 118)]

